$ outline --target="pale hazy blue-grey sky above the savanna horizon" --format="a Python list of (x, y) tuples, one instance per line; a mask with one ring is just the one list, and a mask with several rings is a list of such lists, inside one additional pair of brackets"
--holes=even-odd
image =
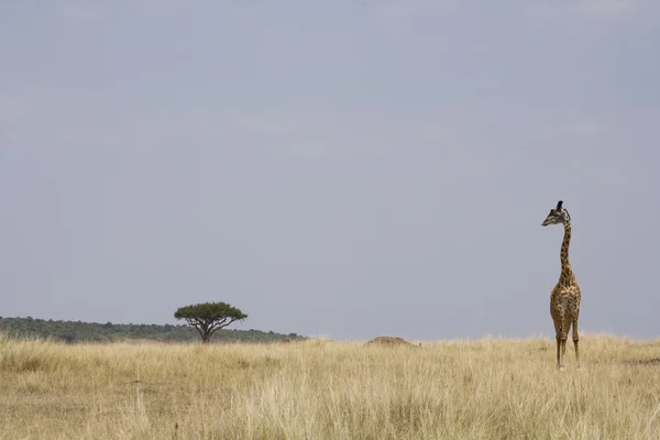
[[(191, 4), (195, 4), (194, 7)], [(660, 2), (0, 3), (0, 316), (660, 334)]]

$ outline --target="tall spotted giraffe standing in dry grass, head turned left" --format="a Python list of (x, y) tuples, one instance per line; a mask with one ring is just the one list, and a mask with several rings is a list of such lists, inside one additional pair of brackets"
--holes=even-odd
[(580, 336), (578, 334), (578, 319), (580, 317), (580, 286), (575, 280), (575, 275), (571, 270), (569, 262), (569, 245), (571, 244), (571, 216), (562, 207), (563, 201), (559, 200), (557, 208), (551, 209), (550, 213), (541, 226), (562, 223), (564, 227), (564, 238), (561, 243), (561, 275), (559, 282), (550, 295), (550, 316), (554, 322), (554, 332), (557, 337), (557, 369), (564, 370), (564, 359), (566, 353), (566, 339), (569, 330), (573, 326), (573, 344), (575, 345), (575, 362), (580, 369), (580, 351), (578, 344)]

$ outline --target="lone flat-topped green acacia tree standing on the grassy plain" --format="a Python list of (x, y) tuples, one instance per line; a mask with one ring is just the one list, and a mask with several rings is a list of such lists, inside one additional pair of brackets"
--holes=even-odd
[(201, 342), (208, 343), (217, 330), (233, 321), (242, 321), (248, 318), (248, 315), (227, 302), (204, 302), (179, 307), (174, 312), (174, 317), (185, 319), (188, 326), (197, 330)]

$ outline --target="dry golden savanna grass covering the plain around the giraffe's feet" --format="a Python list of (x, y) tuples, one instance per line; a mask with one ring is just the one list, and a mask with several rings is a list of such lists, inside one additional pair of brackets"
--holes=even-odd
[[(419, 350), (0, 336), (0, 439), (660, 439), (660, 340)], [(632, 362), (630, 362), (632, 361)], [(636, 363), (637, 362), (637, 363)]]

